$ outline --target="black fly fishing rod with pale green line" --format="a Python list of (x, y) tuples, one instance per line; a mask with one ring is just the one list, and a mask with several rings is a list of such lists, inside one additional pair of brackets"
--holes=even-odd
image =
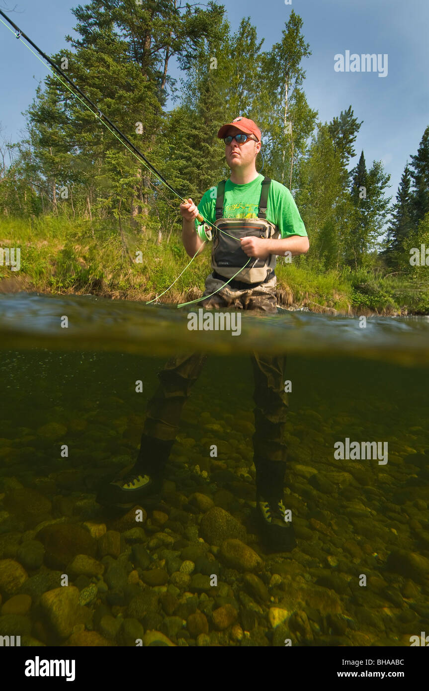
[[(152, 171), (153, 174), (155, 175), (155, 177), (158, 178), (158, 180), (160, 180), (161, 182), (163, 182), (163, 183), (166, 185), (166, 187), (168, 187), (168, 189), (169, 189), (171, 192), (173, 192), (173, 194), (175, 194), (175, 196), (177, 196), (182, 202), (188, 202), (188, 201), (189, 201), (188, 199), (185, 199), (184, 197), (182, 197), (182, 195), (181, 195), (176, 189), (174, 189), (174, 187), (172, 187), (171, 184), (169, 184), (169, 182), (167, 182), (167, 180), (164, 178), (164, 176), (161, 175), (160, 171), (158, 171), (158, 170), (151, 164), (151, 162), (146, 158), (146, 156), (145, 156), (139, 149), (137, 149), (137, 146), (135, 146), (135, 145), (133, 144), (133, 142), (131, 142), (131, 141), (128, 139), (128, 137), (126, 137), (126, 135), (124, 135), (124, 133), (115, 125), (114, 122), (112, 122), (112, 121), (110, 120), (110, 118), (107, 117), (107, 115), (104, 115), (104, 113), (102, 113), (102, 111), (95, 105), (95, 103), (93, 103), (93, 102), (90, 100), (90, 98), (79, 88), (79, 86), (77, 86), (77, 84), (75, 84), (75, 82), (73, 82), (72, 79), (70, 79), (70, 78), (63, 72), (63, 70), (61, 70), (61, 68), (59, 68), (59, 67), (55, 64), (55, 62), (53, 62), (53, 61), (50, 59), (50, 57), (49, 57), (48, 55), (46, 55), (46, 53), (44, 53), (43, 50), (41, 50), (38, 46), (36, 46), (36, 44), (35, 44), (35, 43), (34, 43), (34, 42), (33, 42), (33, 41), (32, 41), (32, 40), (31, 40), (31, 39), (20, 29), (20, 28), (19, 28), (19, 26), (17, 26), (17, 25), (15, 24), (14, 21), (12, 21), (12, 19), (10, 19), (10, 18), (8, 17), (8, 15), (5, 15), (5, 13), (3, 12), (3, 10), (0, 10), (0, 15), (1, 15), (1, 17), (3, 17), (4, 19), (6, 19), (6, 21), (8, 21), (8, 23), (10, 24), (10, 26), (12, 26), (12, 27), (15, 29), (15, 31), (13, 31), (13, 30), (5, 23), (2, 19), (0, 19), (0, 22), (3, 24), (3, 26), (6, 26), (6, 28), (7, 28), (10, 32), (12, 32), (12, 34), (13, 34), (15, 37), (17, 37), (17, 39), (19, 39), (19, 41), (21, 42), (21, 44), (23, 44), (23, 46), (26, 46), (26, 48), (28, 48), (28, 50), (30, 50), (30, 53), (32, 53), (32, 55), (35, 55), (35, 57), (37, 57), (37, 59), (41, 62), (41, 64), (43, 64), (45, 67), (48, 67), (48, 66), (39, 58), (39, 55), (41, 55), (41, 57), (43, 57), (43, 59), (46, 60), (46, 62), (48, 62), (48, 64), (50, 64), (50, 66), (55, 70), (55, 71), (50, 70), (50, 72), (51, 72), (55, 77), (57, 77), (57, 79), (59, 79), (59, 81), (61, 82), (61, 84), (63, 84), (63, 86), (65, 86), (65, 87), (68, 89), (68, 91), (70, 91), (70, 93), (71, 93), (73, 96), (75, 96), (75, 97), (77, 98), (77, 100), (79, 100), (86, 108), (88, 108), (88, 110), (90, 111), (90, 113), (93, 113), (93, 115), (95, 115), (95, 117), (98, 117), (98, 118), (99, 118), (99, 121), (100, 121), (102, 124), (104, 124), (104, 126), (108, 129), (108, 131), (110, 131), (110, 132), (115, 136), (115, 138), (117, 138), (117, 140), (118, 140), (119, 142), (121, 142), (121, 144), (124, 144), (125, 148), (128, 149), (128, 151), (131, 151), (131, 153), (135, 156), (135, 158), (139, 159), (140, 162), (143, 162), (144, 166), (145, 166), (147, 169), (149, 169), (150, 171)], [(16, 33), (15, 33), (15, 32), (16, 32)], [(24, 43), (24, 41), (21, 39), (21, 37), (23, 37), (24, 39), (26, 39), (27, 43), (30, 44), (30, 46), (32, 46), (33, 48), (35, 48), (35, 50), (37, 50), (37, 53), (39, 53), (39, 55), (37, 55), (37, 54), (34, 52), (34, 50), (32, 50), (29, 46), (27, 46), (27, 44)], [(48, 69), (49, 69), (49, 68), (48, 68)], [(65, 82), (63, 82), (63, 80), (61, 79), (61, 77), (58, 76), (58, 73), (61, 75), (61, 77), (63, 77), (63, 78), (66, 80)], [(68, 84), (70, 84), (70, 86), (73, 86), (73, 88), (77, 91), (77, 93), (79, 93), (79, 95), (80, 95), (82, 98), (80, 98), (74, 91), (72, 91), (72, 90), (70, 89), (70, 86), (68, 86)], [(82, 99), (84, 99), (84, 100), (82, 100)], [(91, 107), (88, 106), (88, 104), (90, 104)], [(94, 108), (94, 111), (95, 111), (95, 112), (92, 110), (92, 108)], [(110, 125), (110, 126), (109, 126), (109, 125)], [(119, 136), (118, 136), (118, 135), (119, 135)], [(122, 139), (120, 139), (120, 137), (122, 137)], [(126, 143), (125, 143), (125, 142), (126, 142)], [(196, 218), (197, 218), (198, 221), (200, 221), (200, 223), (204, 223), (204, 225), (207, 223), (210, 227), (214, 227), (214, 226), (213, 226), (213, 223), (211, 223), (207, 218), (204, 218), (204, 216), (203, 216), (202, 214), (200, 214), (200, 212), (198, 212)], [(229, 237), (233, 238), (234, 240), (238, 240), (238, 242), (240, 242), (240, 240), (239, 240), (238, 238), (234, 238), (232, 235), (229, 235), (229, 233), (227, 233), (227, 232), (225, 232), (225, 231), (223, 231), (223, 230), (220, 230), (220, 232), (222, 232), (223, 234), (228, 235)], [(204, 240), (204, 244), (205, 244), (205, 240)], [(149, 302), (146, 302), (146, 305), (149, 305), (150, 303), (154, 302), (155, 300), (158, 300), (158, 298), (160, 298), (162, 295), (164, 295), (164, 293), (166, 293), (168, 290), (170, 290), (171, 287), (173, 287), (173, 285), (175, 284), (175, 282), (178, 281), (178, 279), (180, 278), (180, 276), (182, 276), (182, 274), (184, 273), (184, 271), (186, 271), (186, 269), (191, 265), (191, 263), (192, 263), (193, 260), (196, 258), (196, 256), (197, 256), (197, 254), (198, 254), (199, 251), (200, 251), (200, 248), (197, 249), (197, 252), (193, 255), (193, 257), (192, 257), (191, 261), (189, 262), (189, 264), (187, 264), (187, 266), (184, 267), (182, 273), (178, 276), (178, 278), (176, 278), (175, 281), (173, 281), (173, 283), (171, 283), (171, 285), (170, 285), (168, 288), (166, 288), (166, 290), (164, 290), (164, 292), (162, 292), (160, 295), (157, 295), (153, 300), (150, 300)], [(249, 258), (249, 261), (250, 261), (250, 259), (251, 259), (251, 258)], [(249, 261), (247, 261), (247, 263), (245, 264), (245, 267), (247, 266), (247, 264), (249, 263)], [(240, 271), (241, 271), (243, 268), (245, 268), (245, 267), (241, 267), (241, 268), (238, 270), (237, 274), (240, 273)], [(232, 281), (232, 279), (233, 279), (237, 274), (234, 274), (234, 276), (232, 276), (231, 278), (229, 278), (229, 281)], [(226, 282), (224, 283), (224, 285), (227, 285), (227, 283), (229, 283), (229, 281), (226, 281)], [(220, 288), (218, 288), (218, 290), (221, 290), (222, 287), (224, 287), (224, 285), (222, 285)], [(211, 295), (214, 295), (216, 292), (218, 292), (218, 290), (215, 290), (215, 292), (212, 293)], [(184, 307), (184, 305), (191, 305), (191, 304), (193, 304), (193, 303), (199, 302), (199, 301), (202, 300), (202, 299), (205, 299), (205, 298), (207, 298), (207, 297), (211, 297), (211, 295), (205, 296), (205, 297), (202, 296), (201, 298), (198, 298), (197, 300), (192, 300), (192, 301), (189, 302), (189, 303), (182, 303), (182, 304), (178, 305), (178, 307)]]

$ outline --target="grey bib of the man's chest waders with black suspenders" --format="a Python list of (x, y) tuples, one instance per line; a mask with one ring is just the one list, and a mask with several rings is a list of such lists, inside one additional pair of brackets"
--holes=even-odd
[[(244, 267), (249, 257), (241, 249), (237, 242), (240, 238), (280, 238), (278, 228), (267, 221), (267, 200), (271, 180), (264, 178), (260, 192), (258, 218), (223, 218), (223, 205), (225, 198), (225, 180), (218, 184), (218, 196), (216, 198), (216, 223), (213, 231), (213, 249), (211, 252), (211, 268), (213, 277), (228, 280)], [(225, 231), (225, 232), (220, 232)], [(228, 233), (226, 235), (225, 233)], [(233, 236), (232, 238), (229, 236)], [(266, 259), (250, 257), (251, 261), (242, 272), (237, 274), (237, 280), (229, 285), (241, 284), (245, 287), (254, 287), (268, 281), (274, 275), (276, 267), (276, 254), (269, 254)], [(240, 285), (240, 287), (241, 287)], [(238, 287), (238, 285), (237, 285)]]

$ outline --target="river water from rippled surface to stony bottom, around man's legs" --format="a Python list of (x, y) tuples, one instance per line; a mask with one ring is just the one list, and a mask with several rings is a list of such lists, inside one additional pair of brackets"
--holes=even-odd
[[(0, 635), (411, 645), (429, 630), (429, 319), (279, 309), (233, 334), (190, 330), (198, 310), (0, 297)], [(286, 363), (292, 551), (267, 549), (255, 519), (255, 352)], [(178, 353), (207, 360), (136, 522), (97, 491), (133, 466)]]

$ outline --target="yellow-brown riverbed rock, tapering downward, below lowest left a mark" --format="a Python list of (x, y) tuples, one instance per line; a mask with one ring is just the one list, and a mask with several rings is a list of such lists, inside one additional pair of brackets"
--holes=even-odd
[(69, 585), (49, 590), (41, 596), (40, 605), (55, 634), (68, 638), (77, 623), (79, 589)]

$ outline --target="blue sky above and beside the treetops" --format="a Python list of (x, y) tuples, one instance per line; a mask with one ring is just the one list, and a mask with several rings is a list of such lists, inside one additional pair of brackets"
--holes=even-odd
[[(85, 0), (80, 0), (81, 4)], [(0, 8), (50, 55), (66, 44), (75, 17), (70, 8), (79, 0), (0, 0)], [(293, 8), (303, 19), (303, 35), (312, 55), (303, 61), (303, 84), (309, 105), (322, 122), (332, 120), (350, 104), (359, 122), (355, 144), (367, 168), (382, 160), (397, 192), (403, 167), (417, 153), (429, 124), (429, 2), (428, 0), (223, 0), (232, 29), (243, 16), (251, 17), (263, 49), (280, 41)], [(15, 8), (15, 11), (10, 11)], [(336, 72), (334, 56), (375, 53), (388, 55), (388, 74)], [(32, 102), (38, 82), (47, 70), (0, 24), (0, 124), (12, 141), (25, 129), (21, 111)], [(384, 63), (385, 65), (385, 63)], [(121, 126), (121, 123), (117, 123)]]

